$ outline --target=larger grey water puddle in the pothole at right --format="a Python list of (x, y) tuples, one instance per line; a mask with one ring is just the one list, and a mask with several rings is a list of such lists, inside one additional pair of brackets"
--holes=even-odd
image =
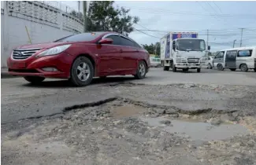
[(232, 138), (239, 134), (248, 134), (249, 131), (239, 124), (221, 124), (213, 126), (210, 123), (202, 123), (195, 121), (170, 120), (170, 125), (163, 125), (161, 121), (166, 120), (164, 117), (149, 118), (141, 117), (143, 122), (147, 122), (152, 127), (161, 127), (162, 130), (179, 135), (181, 137), (189, 137), (191, 141), (213, 141)]

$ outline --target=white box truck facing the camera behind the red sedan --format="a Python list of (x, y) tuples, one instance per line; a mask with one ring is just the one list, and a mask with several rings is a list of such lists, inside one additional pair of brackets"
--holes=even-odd
[[(164, 71), (173, 68), (201, 72), (201, 58), (206, 56), (206, 42), (198, 39), (197, 32), (170, 32), (161, 38), (161, 64)], [(207, 48), (210, 50), (210, 46)]]

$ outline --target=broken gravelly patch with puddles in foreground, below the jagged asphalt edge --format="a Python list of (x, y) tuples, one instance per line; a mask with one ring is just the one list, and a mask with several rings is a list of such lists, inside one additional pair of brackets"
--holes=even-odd
[[(181, 112), (128, 99), (76, 107), (61, 116), (40, 118), (18, 132), (2, 134), (2, 163), (256, 163), (254, 117), (240, 118), (236, 112)], [(227, 124), (229, 128), (224, 127)]]

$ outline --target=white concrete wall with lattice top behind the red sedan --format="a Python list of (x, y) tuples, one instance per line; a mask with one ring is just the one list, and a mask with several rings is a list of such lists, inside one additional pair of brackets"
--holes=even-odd
[(83, 32), (80, 20), (40, 2), (5, 2), (1, 8), (1, 67), (13, 48), (30, 44), (29, 37), (33, 44)]

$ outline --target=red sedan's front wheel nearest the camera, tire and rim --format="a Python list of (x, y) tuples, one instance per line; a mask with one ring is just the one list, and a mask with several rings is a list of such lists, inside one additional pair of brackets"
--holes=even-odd
[(87, 57), (78, 57), (72, 64), (69, 81), (74, 86), (87, 86), (94, 77), (95, 69)]

